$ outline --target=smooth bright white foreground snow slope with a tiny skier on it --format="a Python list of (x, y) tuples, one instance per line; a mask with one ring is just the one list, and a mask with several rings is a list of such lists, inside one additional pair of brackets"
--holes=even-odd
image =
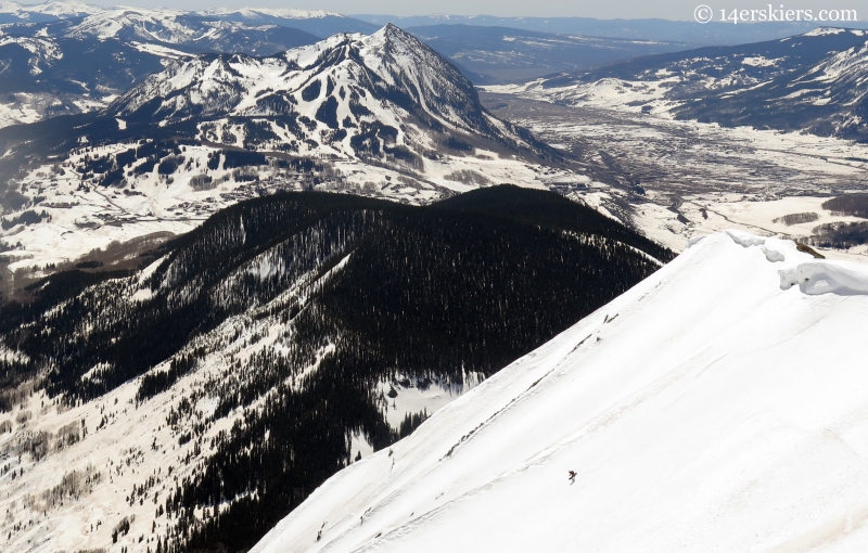
[(702, 239), (253, 551), (864, 551), (866, 294), (792, 242)]

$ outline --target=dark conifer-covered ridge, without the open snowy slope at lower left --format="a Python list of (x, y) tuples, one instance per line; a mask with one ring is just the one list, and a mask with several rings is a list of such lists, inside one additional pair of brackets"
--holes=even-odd
[(391, 383), (494, 374), (656, 270), (649, 256), (672, 257), (514, 187), (426, 207), (281, 193), (156, 255), (131, 274), (52, 275), (33, 303), (0, 307), (14, 352), (0, 406), (27, 383), (75, 406), (133, 382), (132, 410), (170, 390), (175, 479), (128, 497), (153, 501), (161, 553), (248, 549), (352, 462), (352, 435), (381, 449), (427, 416), (391, 426)]

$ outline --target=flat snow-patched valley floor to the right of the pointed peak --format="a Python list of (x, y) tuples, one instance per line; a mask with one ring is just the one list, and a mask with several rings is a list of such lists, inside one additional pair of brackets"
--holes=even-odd
[[(861, 220), (834, 216), (820, 204), (868, 191), (866, 144), (680, 121), (626, 106), (564, 106), (492, 92), (481, 99), (498, 117), (576, 155), (593, 182), (607, 184), (583, 191), (586, 203), (676, 252), (690, 237), (722, 229), (797, 239), (818, 224)], [(819, 219), (775, 222), (806, 211)], [(824, 255), (868, 262), (868, 246)]]

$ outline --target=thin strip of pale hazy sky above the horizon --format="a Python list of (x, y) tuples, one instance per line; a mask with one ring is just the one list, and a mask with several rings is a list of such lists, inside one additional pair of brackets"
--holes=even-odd
[[(166, 0), (85, 0), (86, 3), (101, 5), (132, 4), (153, 8), (166, 5)], [(868, 20), (868, 3), (865, 0), (793, 0), (773, 2), (775, 8), (781, 3), (787, 9), (853, 9), (859, 13), (859, 21)], [(763, 9), (768, 1), (763, 0), (179, 0), (171, 8), (203, 10), (207, 8), (296, 8), (302, 10), (328, 10), (345, 14), (381, 13), (392, 15), (501, 15), (501, 16), (584, 16), (599, 18), (646, 18), (692, 21), (693, 10), (699, 4), (707, 4), (719, 17), (720, 9)]]

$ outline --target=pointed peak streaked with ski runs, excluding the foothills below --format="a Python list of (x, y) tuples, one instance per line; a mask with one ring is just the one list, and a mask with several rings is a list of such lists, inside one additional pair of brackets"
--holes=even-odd
[(393, 25), (271, 57), (177, 62), (105, 113), (139, 126), (194, 120), (200, 138), (247, 149), (385, 153), (420, 168), (439, 151), (476, 145), (553, 155), (527, 132), (488, 115), (454, 65)]

